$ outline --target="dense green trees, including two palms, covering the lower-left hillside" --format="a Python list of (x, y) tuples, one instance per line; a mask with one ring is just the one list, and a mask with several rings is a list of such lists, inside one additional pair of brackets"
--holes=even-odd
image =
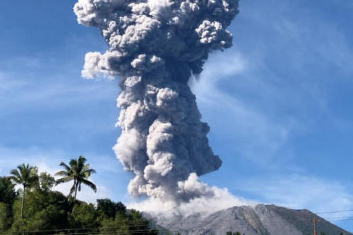
[[(29, 164), (0, 177), (0, 234), (158, 234), (139, 212), (121, 202), (99, 199), (93, 205), (76, 199), (81, 184), (97, 191), (89, 181), (95, 171), (83, 156), (60, 166), (64, 170), (56, 173), (61, 176), (57, 181)], [(64, 182), (73, 182), (68, 196), (53, 190)]]

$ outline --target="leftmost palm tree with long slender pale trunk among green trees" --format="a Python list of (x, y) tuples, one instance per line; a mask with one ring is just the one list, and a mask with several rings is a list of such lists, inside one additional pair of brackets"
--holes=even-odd
[(10, 171), (11, 176), (9, 177), (14, 183), (21, 184), (23, 187), (23, 197), (21, 206), (21, 220), (23, 219), (23, 212), (25, 206), (26, 189), (33, 187), (38, 183), (38, 170), (36, 167), (30, 166), (29, 164), (21, 164), (17, 169)]

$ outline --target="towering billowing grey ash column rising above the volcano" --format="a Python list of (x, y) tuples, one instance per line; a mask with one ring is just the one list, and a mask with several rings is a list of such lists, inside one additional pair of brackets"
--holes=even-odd
[(197, 176), (222, 161), (187, 82), (211, 51), (232, 45), (227, 27), (238, 0), (79, 0), (74, 11), (109, 45), (104, 54), (86, 54), (82, 75), (121, 79), (122, 135), (114, 150), (136, 175), (129, 192), (180, 202), (212, 196)]

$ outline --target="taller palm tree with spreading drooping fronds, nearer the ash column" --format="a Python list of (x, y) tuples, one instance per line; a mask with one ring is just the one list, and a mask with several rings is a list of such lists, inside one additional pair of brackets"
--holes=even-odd
[(94, 169), (90, 169), (89, 164), (86, 164), (87, 159), (84, 156), (79, 156), (78, 159), (72, 159), (68, 166), (64, 162), (60, 163), (60, 166), (64, 168), (64, 171), (59, 171), (55, 175), (62, 176), (62, 178), (56, 181), (56, 185), (74, 181), (69, 195), (75, 193), (74, 198), (76, 200), (77, 191), (81, 191), (81, 184), (87, 185), (94, 192), (97, 192), (97, 187), (94, 183), (88, 180), (91, 174), (96, 173)]

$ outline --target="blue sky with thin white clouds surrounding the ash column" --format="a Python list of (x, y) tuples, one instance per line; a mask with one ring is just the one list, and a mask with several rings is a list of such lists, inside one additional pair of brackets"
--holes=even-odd
[[(111, 149), (117, 80), (80, 78), (84, 54), (106, 45), (76, 23), (74, 3), (5, 0), (0, 9), (0, 175), (22, 162), (55, 172), (83, 154), (99, 192), (81, 199), (129, 203), (131, 175)], [(345, 0), (241, 2), (234, 47), (191, 82), (223, 160), (203, 181), (264, 203), (353, 209), (352, 11)], [(335, 223), (353, 231), (352, 221)]]

